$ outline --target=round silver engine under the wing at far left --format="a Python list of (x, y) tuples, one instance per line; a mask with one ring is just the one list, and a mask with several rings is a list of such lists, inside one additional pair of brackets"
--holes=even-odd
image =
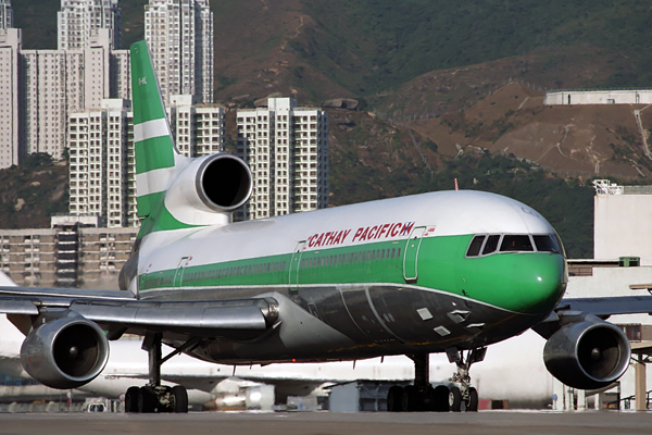
[(32, 377), (52, 388), (76, 388), (95, 380), (109, 360), (109, 343), (96, 323), (66, 311), (38, 325), (21, 347)]

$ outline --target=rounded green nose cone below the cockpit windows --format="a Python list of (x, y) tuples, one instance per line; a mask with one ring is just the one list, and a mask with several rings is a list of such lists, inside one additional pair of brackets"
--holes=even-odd
[(514, 256), (514, 311), (541, 314), (550, 312), (566, 289), (566, 261), (557, 253), (537, 252)]

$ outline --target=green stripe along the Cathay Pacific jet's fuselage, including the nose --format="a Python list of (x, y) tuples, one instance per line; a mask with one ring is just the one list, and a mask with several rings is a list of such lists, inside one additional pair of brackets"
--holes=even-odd
[[(555, 303), (553, 299), (563, 291), (563, 288), (550, 291), (551, 286), (562, 285), (559, 282), (564, 269), (562, 256), (550, 252), (503, 252), (465, 258), (472, 237), (424, 238), (417, 260), (418, 279), (414, 285), (516, 312), (539, 313), (551, 309)], [(403, 239), (304, 251), (301, 253), (297, 278), (290, 278), (293, 254), (287, 253), (143, 274), (139, 289), (273, 285), (305, 287), (365, 283), (406, 285), (403, 276), (406, 243)], [(296, 269), (292, 270), (294, 273)]]

